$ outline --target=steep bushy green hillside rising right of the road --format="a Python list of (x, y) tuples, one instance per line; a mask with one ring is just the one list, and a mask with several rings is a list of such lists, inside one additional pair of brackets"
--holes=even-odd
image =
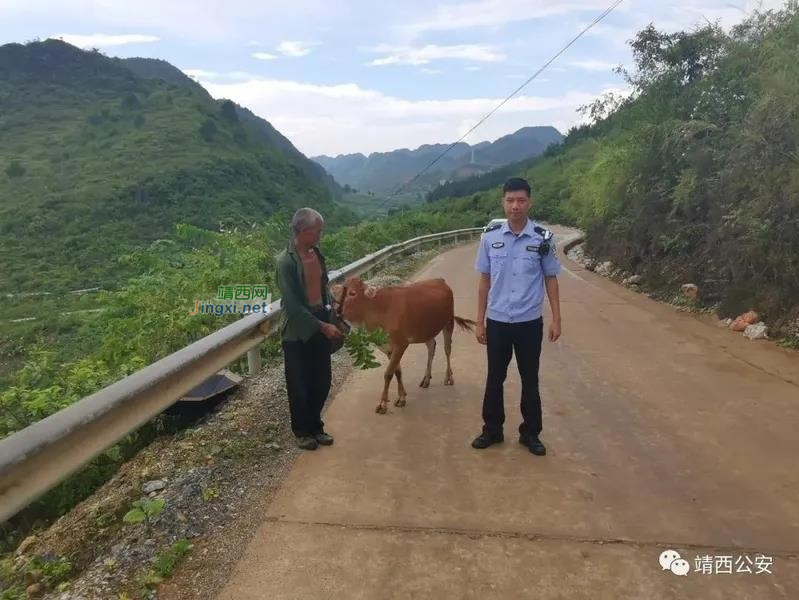
[(685, 302), (680, 286), (694, 283), (697, 307), (753, 309), (799, 347), (798, 11), (756, 12), (730, 32), (642, 30), (630, 98), (597, 99), (592, 126), (438, 190), (427, 210), (485, 223), (502, 216), (505, 177), (525, 176), (535, 218), (585, 229), (589, 253), (641, 275), (643, 291)]

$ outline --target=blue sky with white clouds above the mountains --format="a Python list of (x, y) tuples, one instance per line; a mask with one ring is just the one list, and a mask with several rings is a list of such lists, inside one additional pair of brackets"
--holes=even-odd
[[(612, 0), (0, 0), (0, 44), (61, 38), (169, 61), (215, 98), (267, 119), (307, 156), (451, 143)], [(577, 109), (627, 93), (614, 73), (649, 23), (730, 27), (781, 0), (624, 0), (464, 140), (530, 125), (566, 133)]]

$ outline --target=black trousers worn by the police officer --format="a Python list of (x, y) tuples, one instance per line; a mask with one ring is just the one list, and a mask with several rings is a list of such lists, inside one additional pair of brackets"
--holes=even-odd
[(516, 353), (516, 363), (522, 380), (522, 424), (519, 433), (523, 436), (541, 433), (541, 396), (538, 392), (538, 363), (541, 357), (541, 341), (544, 337), (544, 320), (523, 323), (503, 323), (486, 320), (488, 353), (488, 375), (483, 397), (483, 431), (488, 434), (502, 433), (505, 424), (505, 399), (503, 384), (508, 374), (511, 354)]

